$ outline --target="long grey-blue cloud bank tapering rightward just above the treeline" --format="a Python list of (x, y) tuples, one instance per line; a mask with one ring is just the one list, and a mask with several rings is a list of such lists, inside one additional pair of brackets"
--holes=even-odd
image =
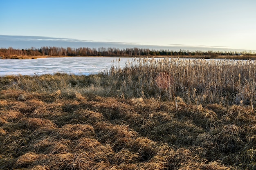
[[(106, 39), (107, 40), (107, 39)], [(113, 39), (110, 39), (113, 40)], [(169, 44), (167, 46), (159, 45), (144, 45), (141, 43), (134, 42), (96, 42), (91, 40), (77, 40), (71, 38), (53, 38), (53, 37), (42, 37), (42, 36), (20, 36), (20, 35), (0, 35), (0, 48), (13, 47), (14, 49), (29, 49), (31, 47), (40, 48), (42, 46), (56, 46), (56, 47), (88, 47), (96, 48), (99, 47), (112, 47), (119, 49), (126, 48), (141, 48), (141, 49), (154, 49), (154, 50), (173, 50), (180, 51), (244, 51), (243, 49), (230, 49), (227, 46), (189, 46), (184, 44)], [(252, 50), (253, 51), (253, 50)]]

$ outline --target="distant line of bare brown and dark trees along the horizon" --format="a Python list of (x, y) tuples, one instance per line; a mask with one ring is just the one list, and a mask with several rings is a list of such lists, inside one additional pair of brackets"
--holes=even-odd
[[(8, 49), (1, 48), (0, 49), (0, 57), (6, 56), (38, 56), (38, 55), (49, 55), (49, 56), (108, 56), (108, 57), (130, 57), (130, 56), (209, 56), (216, 57), (219, 55), (236, 55), (238, 52), (234, 51), (188, 51), (188, 50), (150, 50), (150, 49), (140, 49), (140, 48), (126, 48), (126, 49), (118, 49), (118, 48), (105, 48), (100, 47), (98, 49), (91, 49), (86, 47), (81, 48), (63, 48), (63, 47), (55, 47), (55, 46), (43, 46), (40, 49), (36, 49), (31, 47), (30, 49), (13, 49), (9, 47)], [(243, 55), (256, 55), (255, 52), (239, 52)]]

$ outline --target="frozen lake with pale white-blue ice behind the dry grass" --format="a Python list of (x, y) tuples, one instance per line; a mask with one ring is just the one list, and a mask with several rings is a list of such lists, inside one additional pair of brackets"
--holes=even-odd
[(60, 57), (25, 60), (0, 60), (0, 76), (41, 75), (52, 73), (72, 73), (88, 75), (99, 73), (111, 66), (124, 67), (128, 57)]

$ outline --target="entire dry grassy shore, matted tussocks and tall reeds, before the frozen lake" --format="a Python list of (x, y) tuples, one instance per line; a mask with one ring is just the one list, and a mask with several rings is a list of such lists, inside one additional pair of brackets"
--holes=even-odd
[(256, 168), (255, 63), (0, 77), (0, 169)]

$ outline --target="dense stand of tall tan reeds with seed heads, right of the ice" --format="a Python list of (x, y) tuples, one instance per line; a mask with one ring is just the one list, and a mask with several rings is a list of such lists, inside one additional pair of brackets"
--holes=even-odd
[(187, 103), (255, 105), (254, 60), (137, 58), (112, 67), (112, 88), (124, 97), (157, 97)]

